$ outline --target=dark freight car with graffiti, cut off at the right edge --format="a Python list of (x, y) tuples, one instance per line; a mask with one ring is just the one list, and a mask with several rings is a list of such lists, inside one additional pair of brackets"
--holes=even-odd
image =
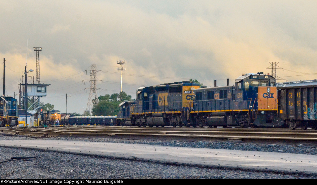
[(317, 80), (277, 83), (278, 114), (290, 129), (317, 130)]

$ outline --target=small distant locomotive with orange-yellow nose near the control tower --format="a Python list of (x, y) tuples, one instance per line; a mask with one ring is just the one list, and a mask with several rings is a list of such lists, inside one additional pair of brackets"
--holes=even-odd
[(54, 125), (56, 120), (58, 120), (58, 124), (61, 124), (61, 111), (59, 110), (41, 111), (39, 113), (40, 125)]

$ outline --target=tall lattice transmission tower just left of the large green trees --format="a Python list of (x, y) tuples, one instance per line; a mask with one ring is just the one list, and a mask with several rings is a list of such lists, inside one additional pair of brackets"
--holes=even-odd
[(98, 104), (97, 85), (96, 85), (96, 73), (97, 67), (95, 64), (90, 65), (90, 93), (87, 102), (86, 112), (90, 113), (90, 110), (95, 104)]

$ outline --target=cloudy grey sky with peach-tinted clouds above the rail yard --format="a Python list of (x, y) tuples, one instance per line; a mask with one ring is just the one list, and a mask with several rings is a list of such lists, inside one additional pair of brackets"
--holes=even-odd
[(140, 86), (191, 78), (233, 84), (242, 73), (271, 73), (269, 62), (280, 62), (283, 79), (317, 79), (307, 75), (317, 73), (316, 10), (316, 0), (0, 0), (6, 95), (18, 94), (26, 63), (36, 76), (33, 47), (42, 47), (40, 82), (51, 84), (41, 101), (62, 113), (66, 93), (68, 113), (86, 110), (92, 64), (98, 96), (119, 93), (120, 59), (133, 98)]

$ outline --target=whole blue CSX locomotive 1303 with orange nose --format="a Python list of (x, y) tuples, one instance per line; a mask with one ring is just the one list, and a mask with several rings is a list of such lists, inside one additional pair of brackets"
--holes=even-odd
[(235, 85), (195, 89), (193, 127), (279, 127), (275, 79), (270, 75), (243, 74)]

